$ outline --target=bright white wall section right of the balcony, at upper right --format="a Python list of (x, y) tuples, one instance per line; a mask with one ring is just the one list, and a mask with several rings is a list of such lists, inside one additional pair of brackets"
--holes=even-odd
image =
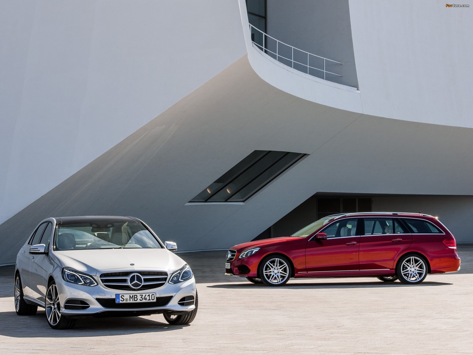
[(473, 127), (473, 4), (445, 4), (350, 0), (365, 114)]

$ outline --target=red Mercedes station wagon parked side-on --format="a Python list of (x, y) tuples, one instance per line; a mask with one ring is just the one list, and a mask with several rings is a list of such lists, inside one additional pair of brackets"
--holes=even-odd
[(290, 237), (236, 245), (225, 264), (226, 275), (270, 286), (353, 276), (419, 284), (427, 274), (459, 269), (455, 238), (437, 217), (392, 212), (327, 216)]

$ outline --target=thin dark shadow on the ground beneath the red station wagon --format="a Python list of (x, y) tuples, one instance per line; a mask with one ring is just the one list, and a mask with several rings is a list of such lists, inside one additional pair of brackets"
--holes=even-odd
[[(304, 288), (324, 288), (324, 289), (332, 289), (332, 288), (378, 288), (378, 287), (426, 287), (426, 286), (445, 286), (451, 285), (445, 282), (432, 282), (432, 281), (424, 281), (421, 284), (417, 285), (405, 285), (401, 284), (400, 282), (344, 282), (344, 283), (297, 283), (291, 284), (290, 281), (285, 284), (284, 286), (279, 286), (278, 288), (295, 288), (295, 289), (304, 289)], [(217, 284), (217, 285), (210, 285), (207, 286), (209, 288), (229, 288), (229, 289), (244, 289), (244, 288), (254, 288), (254, 287), (265, 287), (265, 288), (272, 288), (272, 286), (266, 286), (264, 284)]]

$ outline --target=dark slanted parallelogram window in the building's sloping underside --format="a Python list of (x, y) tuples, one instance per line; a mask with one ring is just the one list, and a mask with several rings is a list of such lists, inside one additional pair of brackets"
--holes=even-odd
[(243, 202), (306, 154), (254, 151), (190, 202)]

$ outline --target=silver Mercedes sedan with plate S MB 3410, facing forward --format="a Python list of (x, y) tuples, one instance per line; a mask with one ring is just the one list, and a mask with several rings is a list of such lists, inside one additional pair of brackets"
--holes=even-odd
[(162, 313), (189, 324), (198, 298), (191, 268), (134, 217), (47, 218), (20, 249), (15, 267), (15, 310), (46, 310), (54, 329), (77, 318)]

